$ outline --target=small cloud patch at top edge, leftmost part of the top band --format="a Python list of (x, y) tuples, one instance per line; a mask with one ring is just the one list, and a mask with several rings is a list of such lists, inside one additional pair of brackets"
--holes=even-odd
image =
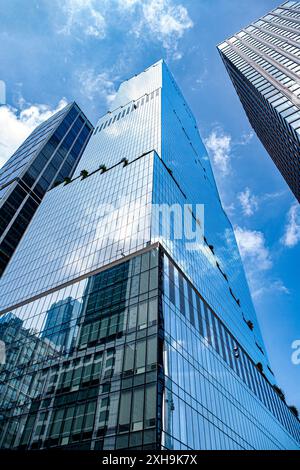
[(98, 39), (106, 36), (106, 21), (99, 10), (101, 1), (64, 0), (60, 6), (66, 18), (60, 33), (69, 35), (77, 29), (81, 34)]

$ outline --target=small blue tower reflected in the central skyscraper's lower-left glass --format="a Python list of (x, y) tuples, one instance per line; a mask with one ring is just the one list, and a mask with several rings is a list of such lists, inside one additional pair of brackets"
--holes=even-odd
[(79, 302), (71, 297), (51, 305), (47, 311), (41, 337), (48, 338), (56, 348), (68, 349), (71, 345), (72, 328), (75, 327), (79, 309)]

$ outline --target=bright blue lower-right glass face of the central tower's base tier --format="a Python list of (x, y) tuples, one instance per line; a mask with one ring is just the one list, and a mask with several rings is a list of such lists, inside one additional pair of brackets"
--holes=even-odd
[(163, 286), (163, 447), (297, 448), (297, 418), (166, 254)]

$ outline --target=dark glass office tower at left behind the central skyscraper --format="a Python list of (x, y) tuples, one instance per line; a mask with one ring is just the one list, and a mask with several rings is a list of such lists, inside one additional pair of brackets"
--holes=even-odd
[(0, 277), (47, 189), (72, 176), (92, 129), (71, 103), (40, 124), (0, 170)]

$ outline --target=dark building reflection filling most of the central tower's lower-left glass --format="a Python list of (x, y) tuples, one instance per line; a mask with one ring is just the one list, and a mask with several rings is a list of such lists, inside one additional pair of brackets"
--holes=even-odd
[(158, 260), (156, 250), (89, 278), (72, 351), (53, 359), (44, 351), (37, 373), (19, 379), (29, 380), (27, 397), (39, 384), (32, 400), (17, 411), (1, 407), (2, 447), (89, 448), (95, 439), (101, 448), (119, 429), (122, 447), (132, 426), (131, 445), (156, 446)]

